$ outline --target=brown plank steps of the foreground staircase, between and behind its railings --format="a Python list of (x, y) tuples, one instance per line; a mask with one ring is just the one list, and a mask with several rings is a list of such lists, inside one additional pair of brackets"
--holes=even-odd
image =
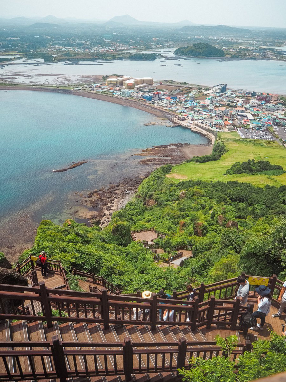
[[(32, 374), (33, 371), (46, 371), (48, 373), (55, 372), (55, 364), (53, 362), (53, 357), (50, 355), (44, 355), (42, 359), (40, 357), (31, 357), (29, 353), (34, 351), (35, 353), (39, 352), (39, 350), (47, 350), (47, 346), (35, 346), (37, 343), (49, 343), (55, 336), (58, 336), (59, 340), (68, 346), (65, 347), (68, 351), (72, 350), (95, 350), (100, 348), (104, 348), (106, 354), (102, 354), (95, 357), (93, 355), (83, 356), (75, 356), (75, 355), (65, 355), (65, 362), (68, 369), (75, 369), (78, 371), (84, 371), (85, 368), (88, 370), (92, 370), (95, 368), (95, 364), (97, 368), (100, 369), (109, 369), (114, 370), (117, 369), (119, 371), (123, 371), (124, 364), (121, 357), (117, 357), (115, 354), (118, 350), (118, 344), (124, 343), (125, 339), (128, 337), (132, 341), (133, 351), (145, 349), (147, 354), (135, 354), (133, 355), (133, 367), (138, 367), (141, 365), (142, 369), (151, 367), (155, 368), (156, 364), (162, 363), (163, 355), (161, 353), (156, 354), (152, 353), (152, 350), (160, 350), (162, 346), (165, 349), (174, 348), (174, 344), (178, 343), (181, 338), (185, 338), (187, 342), (198, 344), (196, 347), (196, 353), (194, 356), (199, 356), (203, 354), (203, 351), (206, 349), (204, 345), (207, 343), (206, 338), (201, 333), (200, 330), (196, 330), (192, 332), (190, 327), (157, 327), (156, 330), (151, 331), (149, 327), (146, 326), (133, 326), (133, 325), (122, 325), (121, 327), (117, 327), (116, 325), (110, 325), (109, 329), (104, 330), (99, 324), (72, 324), (71, 322), (67, 322), (64, 324), (55, 323), (52, 328), (47, 328), (47, 325), (42, 324), (42, 322), (32, 322), (27, 324), (26, 321), (18, 321), (11, 322), (7, 321), (5, 324), (0, 324), (0, 333), (2, 337), (1, 340), (5, 341), (13, 341), (16, 343), (25, 342), (26, 346), (21, 347), (11, 347), (7, 346), (10, 350), (15, 350), (21, 352), (21, 355), (18, 357), (9, 357), (10, 370), (13, 372), (22, 371), (22, 380), (27, 380), (25, 378), (25, 374)], [(78, 344), (78, 345), (77, 345)], [(84, 346), (83, 346), (84, 344)], [(138, 344), (138, 346), (136, 346)], [(146, 346), (144, 346), (146, 344)], [(100, 345), (100, 346), (99, 346)], [(116, 346), (114, 346), (116, 345)], [(200, 351), (201, 349), (201, 351)], [(5, 348), (1, 349), (5, 351)], [(148, 351), (150, 353), (148, 353)], [(176, 364), (177, 354), (169, 354), (165, 357), (165, 372), (158, 372), (154, 375), (154, 373), (142, 372), (141, 374), (137, 374), (136, 377), (133, 376), (133, 380), (140, 382), (147, 381), (167, 381), (167, 380), (179, 380), (177, 378), (177, 374), (174, 371), (167, 371), (167, 368), (170, 366), (171, 358), (172, 363)], [(205, 358), (209, 358), (209, 354), (205, 355)], [(185, 364), (188, 364), (189, 355), (185, 356)], [(2, 368), (0, 367), (0, 372), (2, 372)], [(0, 381), (7, 380), (0, 377)], [(32, 379), (30, 379), (32, 380)], [(45, 381), (53, 381), (56, 382), (58, 379), (42, 379)], [(71, 381), (77, 381), (77, 378), (71, 378)], [(91, 376), (84, 377), (80, 379), (81, 381), (88, 382), (97, 382), (97, 381), (125, 381), (125, 377), (122, 375), (114, 376), (114, 375), (106, 375), (106, 376)]]

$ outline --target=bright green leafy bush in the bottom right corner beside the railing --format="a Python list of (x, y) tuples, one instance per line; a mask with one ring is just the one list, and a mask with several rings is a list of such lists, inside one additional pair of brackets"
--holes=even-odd
[[(248, 382), (258, 378), (286, 371), (285, 338), (272, 332), (271, 340), (258, 340), (252, 343), (252, 351), (239, 356), (238, 362), (231, 361), (231, 351), (235, 349), (238, 338), (217, 336), (217, 345), (224, 355), (211, 359), (192, 358), (190, 370), (180, 370), (187, 382)], [(236, 373), (235, 373), (236, 371)]]

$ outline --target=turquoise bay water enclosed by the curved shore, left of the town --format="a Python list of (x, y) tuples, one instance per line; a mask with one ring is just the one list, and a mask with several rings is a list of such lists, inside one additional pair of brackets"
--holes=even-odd
[[(189, 129), (144, 126), (149, 121), (141, 110), (76, 95), (0, 91), (0, 219), (33, 209), (37, 220), (61, 220), (69, 194), (132, 175), (140, 157), (130, 154), (207, 143)], [(52, 172), (80, 160), (88, 163)]]

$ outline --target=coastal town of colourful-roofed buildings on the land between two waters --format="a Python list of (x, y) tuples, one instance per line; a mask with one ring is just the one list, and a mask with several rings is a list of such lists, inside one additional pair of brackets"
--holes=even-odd
[(130, 76), (110, 76), (106, 83), (75, 90), (137, 100), (169, 117), (172, 113), (173, 122), (185, 127), (237, 130), (241, 138), (286, 142), (286, 99), (278, 94), (228, 89), (227, 84), (202, 87)]

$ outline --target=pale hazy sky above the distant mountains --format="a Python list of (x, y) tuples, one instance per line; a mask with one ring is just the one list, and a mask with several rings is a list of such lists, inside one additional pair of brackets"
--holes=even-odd
[(0, 16), (110, 19), (286, 28), (286, 0), (0, 0)]

